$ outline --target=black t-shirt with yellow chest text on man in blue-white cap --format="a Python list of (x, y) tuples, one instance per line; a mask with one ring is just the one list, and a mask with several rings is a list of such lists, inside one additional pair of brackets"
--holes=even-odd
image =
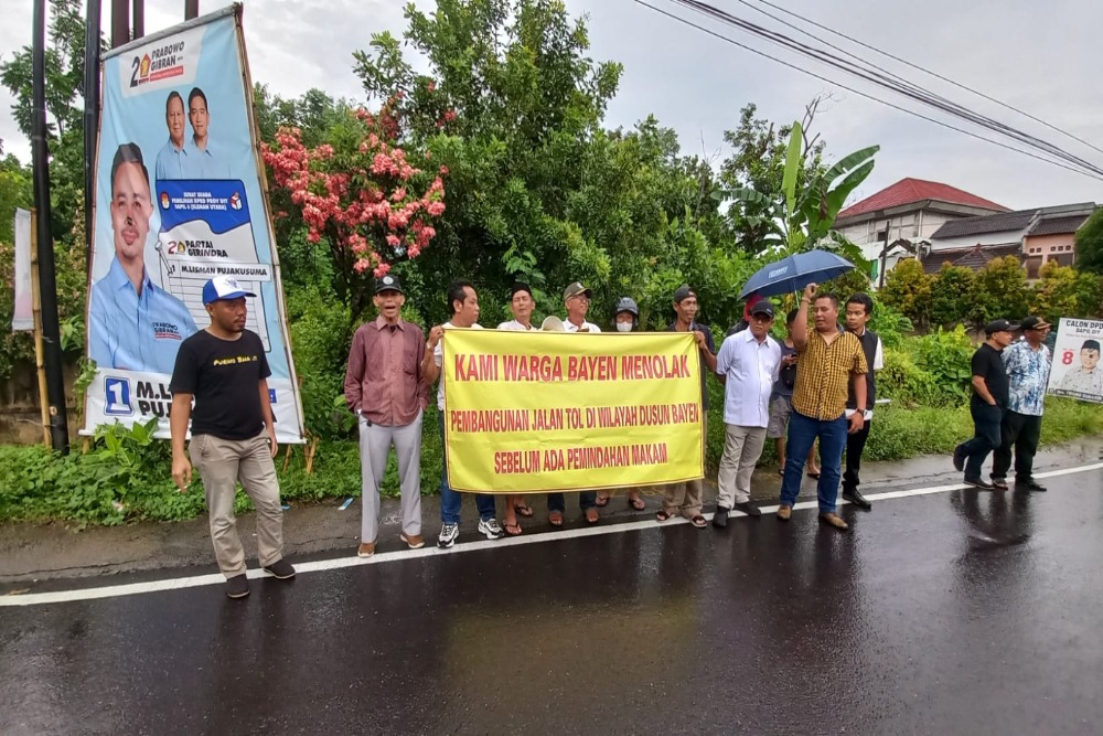
[(249, 439), (264, 428), (259, 387), (270, 375), (256, 332), (223, 340), (200, 330), (180, 343), (169, 390), (195, 397), (192, 435)]

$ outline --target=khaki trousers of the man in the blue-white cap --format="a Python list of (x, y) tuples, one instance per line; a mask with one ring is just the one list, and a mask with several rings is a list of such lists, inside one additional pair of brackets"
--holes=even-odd
[(268, 447), (268, 431), (261, 430), (253, 439), (242, 440), (194, 435), (188, 454), (203, 479), (211, 518), (211, 544), (222, 574), (229, 578), (245, 572), (245, 550), (234, 516), (238, 481), (257, 510), (260, 566), (267, 567), (282, 558), (283, 510), (279, 502), (276, 465)]

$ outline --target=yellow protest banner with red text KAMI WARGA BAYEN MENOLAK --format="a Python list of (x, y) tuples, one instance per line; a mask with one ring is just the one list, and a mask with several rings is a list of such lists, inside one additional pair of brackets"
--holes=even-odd
[(700, 370), (686, 333), (449, 329), (448, 482), (532, 493), (702, 478)]

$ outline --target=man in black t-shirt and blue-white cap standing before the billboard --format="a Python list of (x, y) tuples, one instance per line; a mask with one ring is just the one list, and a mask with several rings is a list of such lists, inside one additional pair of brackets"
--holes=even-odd
[[(295, 577), (295, 568), (283, 559), (283, 510), (272, 462), (277, 445), (268, 397), (271, 371), (260, 338), (245, 329), (245, 298), (255, 296), (228, 276), (216, 276), (203, 286), (211, 326), (180, 344), (169, 384), (172, 478), (186, 491), (192, 462), (200, 471), (211, 542), (231, 598), (249, 595), (245, 551), (234, 519), (237, 481), (257, 510), (260, 565), (280, 580)], [(185, 454), (189, 418), (192, 441)]]

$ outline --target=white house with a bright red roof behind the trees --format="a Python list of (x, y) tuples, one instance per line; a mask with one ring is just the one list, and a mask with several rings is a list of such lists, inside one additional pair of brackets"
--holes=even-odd
[(956, 186), (909, 178), (839, 212), (835, 230), (874, 263), (870, 278), (877, 284), (947, 222), (1002, 212), (1007, 207)]

